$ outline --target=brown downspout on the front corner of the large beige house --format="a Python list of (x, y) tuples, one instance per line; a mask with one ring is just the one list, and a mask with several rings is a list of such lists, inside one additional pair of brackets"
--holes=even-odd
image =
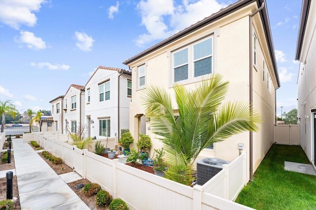
[[(252, 17), (257, 14), (259, 11), (263, 9), (265, 6), (265, 3), (262, 2), (260, 8), (258, 8), (256, 11), (254, 11), (250, 16), (249, 16), (249, 112), (250, 112), (250, 118), (252, 116), (253, 112), (253, 107), (252, 107), (252, 102), (253, 102), (253, 96), (252, 96), (252, 91), (253, 91), (253, 86), (252, 86)], [(253, 179), (253, 132), (249, 132), (249, 179), (252, 181)]]

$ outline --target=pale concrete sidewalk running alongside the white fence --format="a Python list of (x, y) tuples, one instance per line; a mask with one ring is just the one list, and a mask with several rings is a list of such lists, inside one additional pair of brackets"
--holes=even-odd
[(89, 210), (28, 143), (12, 142), (22, 210)]

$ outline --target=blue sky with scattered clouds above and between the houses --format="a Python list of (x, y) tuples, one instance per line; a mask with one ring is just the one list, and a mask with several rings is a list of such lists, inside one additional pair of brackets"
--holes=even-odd
[[(51, 110), (71, 84), (122, 62), (237, 0), (0, 0), (0, 100)], [(302, 0), (267, 0), (281, 88), (277, 110), (297, 107), (294, 61)]]

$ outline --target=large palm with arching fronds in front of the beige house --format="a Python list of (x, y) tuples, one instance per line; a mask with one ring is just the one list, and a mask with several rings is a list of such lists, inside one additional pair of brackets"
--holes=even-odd
[(193, 163), (203, 149), (234, 134), (259, 130), (261, 118), (250, 113), (249, 104), (223, 103), (229, 82), (222, 78), (213, 74), (195, 90), (174, 86), (176, 110), (166, 90), (154, 86), (144, 90), (146, 117), (151, 118), (152, 132), (162, 137), (166, 152), (166, 178), (189, 184), (194, 180)]

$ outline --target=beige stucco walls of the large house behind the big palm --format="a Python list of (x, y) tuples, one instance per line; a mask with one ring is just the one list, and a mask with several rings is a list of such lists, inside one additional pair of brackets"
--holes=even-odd
[[(146, 65), (146, 84), (159, 85), (165, 88), (173, 95), (172, 89), (172, 60), (171, 52), (179, 49), (187, 44), (197, 41), (207, 35), (213, 38), (213, 72), (220, 73), (224, 77), (224, 81), (229, 81), (229, 91), (226, 100), (230, 101), (244, 101), (249, 103), (249, 14), (252, 13), (257, 7), (248, 5), (243, 11), (237, 11), (226, 18), (217, 20), (212, 24), (203, 27), (195, 32), (182, 37), (173, 43), (161, 47), (156, 52), (144, 56), (129, 64), (132, 67), (133, 74), (132, 80), (137, 81), (137, 66), (142, 64)], [(253, 104), (259, 112), (265, 116), (264, 123), (260, 125), (260, 132), (254, 133), (254, 169), (258, 167), (266, 152), (272, 145), (273, 141), (273, 124), (275, 122), (275, 88), (276, 78), (272, 67), (267, 67), (266, 74), (270, 70), (273, 77), (274, 84), (272, 85), (271, 93), (267, 89), (267, 82), (263, 81), (263, 60), (267, 66), (272, 66), (271, 59), (268, 58), (269, 51), (265, 35), (263, 34), (262, 25), (257, 23), (260, 18), (254, 18), (254, 29), (258, 33), (259, 49), (257, 50), (257, 69), (253, 69)], [(262, 33), (262, 34), (259, 34)], [(264, 49), (264, 50), (263, 50)], [(262, 64), (260, 64), (262, 63)], [(187, 88), (193, 88), (195, 82), (200, 81), (202, 78), (192, 79), (183, 82)], [(135, 140), (138, 139), (139, 122), (137, 117), (141, 116), (143, 111), (140, 95), (142, 89), (137, 89), (137, 82), (132, 85), (133, 96), (130, 103), (130, 131)], [(175, 106), (175, 101), (173, 99)], [(175, 107), (176, 109), (176, 107)], [(136, 116), (136, 117), (135, 117)], [(148, 129), (150, 123), (146, 123), (146, 133), (151, 135), (151, 130)], [(151, 135), (153, 140), (153, 149), (162, 147), (162, 144), (155, 139), (155, 135)], [(227, 161), (233, 161), (238, 155), (238, 143), (244, 144), (249, 156), (249, 132), (238, 134), (230, 139), (215, 144), (214, 150), (203, 150), (200, 153), (199, 159), (203, 157), (218, 157)], [(131, 147), (136, 147), (136, 144)], [(248, 158), (249, 165), (249, 158)], [(249, 167), (248, 167), (249, 171)], [(247, 173), (249, 174), (249, 173)]]

